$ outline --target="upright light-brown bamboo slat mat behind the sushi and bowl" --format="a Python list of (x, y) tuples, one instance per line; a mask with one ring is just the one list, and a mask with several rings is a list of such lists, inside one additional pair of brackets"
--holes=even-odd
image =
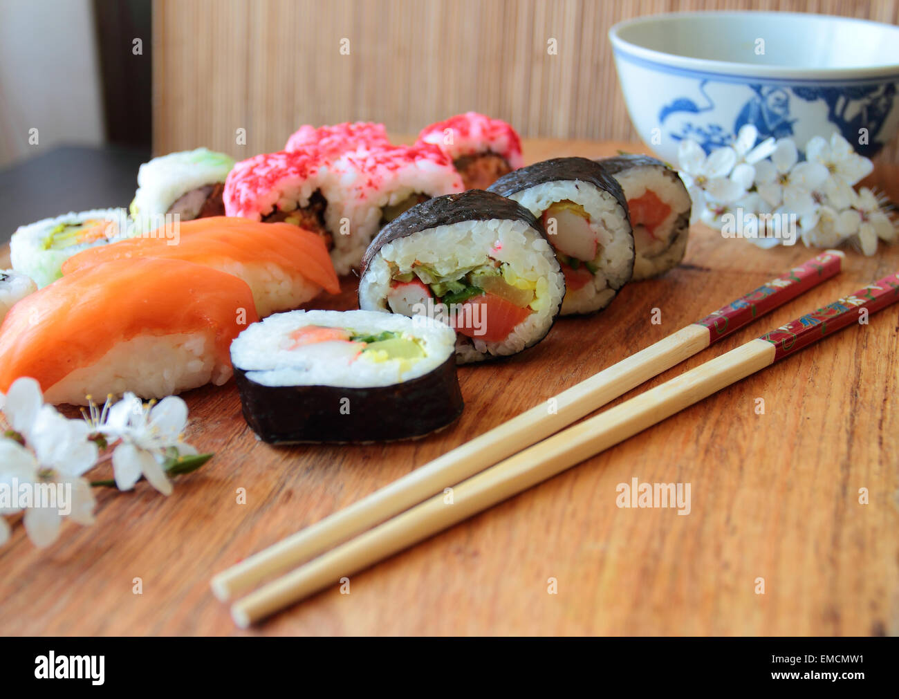
[[(607, 37), (615, 22), (704, 9), (899, 21), (899, 0), (155, 0), (153, 9), (156, 153), (205, 145), (237, 157), (280, 149), (301, 123), (377, 120), (415, 134), (467, 110), (526, 137), (639, 140)], [(899, 149), (883, 157), (896, 161)]]

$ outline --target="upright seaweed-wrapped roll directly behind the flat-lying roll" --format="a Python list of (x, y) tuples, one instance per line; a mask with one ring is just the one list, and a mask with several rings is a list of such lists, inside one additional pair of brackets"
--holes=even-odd
[(483, 190), (435, 197), (396, 218), (365, 252), (359, 284), (360, 308), (452, 325), (459, 363), (536, 344), (564, 295), (539, 222)]

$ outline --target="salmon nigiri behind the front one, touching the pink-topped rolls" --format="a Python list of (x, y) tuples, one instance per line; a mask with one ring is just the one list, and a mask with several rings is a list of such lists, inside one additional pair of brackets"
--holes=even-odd
[(236, 217), (207, 217), (160, 228), (147, 236), (79, 252), (63, 274), (109, 260), (171, 258), (205, 264), (240, 277), (253, 290), (261, 317), (289, 311), (324, 288), (340, 292), (334, 265), (321, 237), (289, 224), (263, 224)]

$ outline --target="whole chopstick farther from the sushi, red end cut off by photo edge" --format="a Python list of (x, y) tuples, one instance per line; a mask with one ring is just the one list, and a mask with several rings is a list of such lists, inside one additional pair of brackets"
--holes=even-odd
[[(238, 600), (231, 607), (235, 623), (246, 627), (333, 585), (343, 576), (364, 570), (633, 437), (851, 323), (867, 323), (868, 314), (897, 300), (899, 272), (565, 429), (458, 483), (453, 488), (453, 504), (447, 504), (442, 494), (435, 495)], [(862, 309), (867, 313), (863, 314)]]

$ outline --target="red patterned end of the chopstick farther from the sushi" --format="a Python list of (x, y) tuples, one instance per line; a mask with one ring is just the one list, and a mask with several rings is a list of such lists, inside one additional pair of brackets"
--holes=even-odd
[(869, 314), (896, 301), (899, 301), (899, 272), (766, 332), (761, 340), (774, 345), (774, 361), (778, 361), (852, 323), (867, 323)]

